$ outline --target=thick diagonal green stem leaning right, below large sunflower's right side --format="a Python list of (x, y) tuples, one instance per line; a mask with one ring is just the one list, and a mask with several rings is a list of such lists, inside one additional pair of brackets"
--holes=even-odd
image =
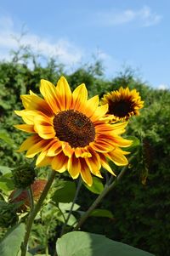
[[(133, 156), (131, 156), (128, 160), (128, 162), (131, 162), (133, 159)], [(82, 217), (79, 219), (77, 226), (74, 228), (74, 230), (79, 230), (80, 227), (82, 226), (82, 224), (86, 221), (86, 219), (88, 219), (90, 213), (92, 213), (92, 211), (98, 206), (99, 202), (101, 202), (101, 200), (105, 197), (105, 195), (107, 195), (109, 193), (109, 191), (111, 191), (116, 184), (119, 182), (120, 179), (122, 179), (122, 176), (125, 174), (126, 170), (128, 168), (128, 165), (122, 168), (122, 171), (120, 172), (120, 174), (117, 175), (116, 179), (109, 185), (105, 185), (104, 190), (101, 192), (101, 194), (99, 194), (99, 196), (96, 198), (96, 200), (93, 202), (93, 204), (88, 208), (88, 211), (85, 212)]]

